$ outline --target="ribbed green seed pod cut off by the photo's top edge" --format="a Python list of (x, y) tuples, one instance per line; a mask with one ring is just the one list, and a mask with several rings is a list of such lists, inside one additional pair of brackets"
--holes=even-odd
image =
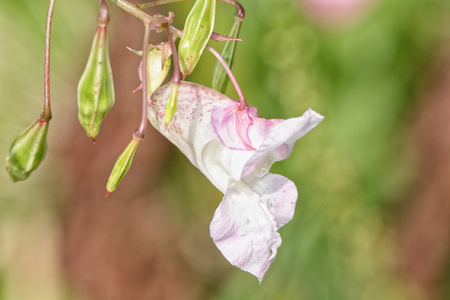
[(216, 0), (197, 0), (184, 24), (178, 45), (181, 72), (189, 75), (200, 60), (214, 28)]

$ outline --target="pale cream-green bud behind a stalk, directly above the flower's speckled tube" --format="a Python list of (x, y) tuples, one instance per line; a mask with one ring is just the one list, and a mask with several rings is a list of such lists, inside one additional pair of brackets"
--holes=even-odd
[[(161, 49), (159, 49), (159, 46), (155, 46), (147, 53), (147, 90), (149, 97), (161, 86), (164, 79), (166, 79), (172, 62), (170, 47), (167, 48), (161, 45)], [(139, 65), (138, 71), (139, 79), (142, 81), (142, 63)], [(135, 91), (141, 88), (142, 84)]]

